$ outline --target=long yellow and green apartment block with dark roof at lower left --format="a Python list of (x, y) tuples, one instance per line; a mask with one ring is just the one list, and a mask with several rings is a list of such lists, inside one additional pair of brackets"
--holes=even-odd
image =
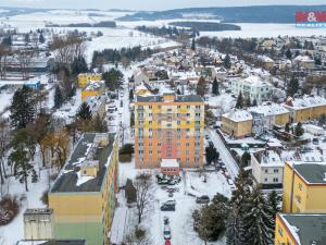
[(50, 188), (54, 238), (109, 245), (118, 191), (116, 134), (85, 133)]

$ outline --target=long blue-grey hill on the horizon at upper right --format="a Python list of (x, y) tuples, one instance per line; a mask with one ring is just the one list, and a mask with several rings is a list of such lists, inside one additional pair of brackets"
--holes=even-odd
[(173, 19), (218, 19), (227, 23), (294, 23), (296, 11), (326, 11), (326, 5), (252, 5), (190, 8), (127, 14), (117, 21), (156, 21)]

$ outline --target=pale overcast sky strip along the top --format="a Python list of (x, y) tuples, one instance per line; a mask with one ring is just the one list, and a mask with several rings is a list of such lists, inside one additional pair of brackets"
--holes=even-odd
[(167, 10), (190, 7), (325, 4), (325, 0), (0, 0), (1, 7)]

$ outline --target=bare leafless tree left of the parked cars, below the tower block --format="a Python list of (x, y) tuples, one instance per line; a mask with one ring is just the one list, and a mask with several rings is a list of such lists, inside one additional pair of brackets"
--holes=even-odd
[(136, 176), (136, 207), (138, 211), (138, 223), (141, 222), (143, 211), (151, 203), (152, 176), (150, 173), (140, 173)]

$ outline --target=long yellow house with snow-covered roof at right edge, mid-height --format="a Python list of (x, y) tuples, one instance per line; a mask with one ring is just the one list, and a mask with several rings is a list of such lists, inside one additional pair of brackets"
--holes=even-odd
[(292, 122), (310, 121), (326, 114), (326, 98), (321, 96), (289, 97), (283, 106), (290, 111)]

